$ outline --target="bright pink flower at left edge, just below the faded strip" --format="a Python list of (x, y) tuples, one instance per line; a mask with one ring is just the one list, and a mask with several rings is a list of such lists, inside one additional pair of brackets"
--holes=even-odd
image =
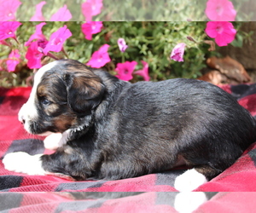
[(16, 39), (15, 31), (21, 25), (19, 21), (3, 21), (0, 24), (0, 40), (8, 37)]

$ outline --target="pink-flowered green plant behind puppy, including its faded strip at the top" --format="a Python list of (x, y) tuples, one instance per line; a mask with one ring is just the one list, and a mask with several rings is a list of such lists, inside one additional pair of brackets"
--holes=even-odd
[[(104, 66), (123, 80), (196, 78), (201, 74), (201, 68), (205, 66), (202, 61), (205, 60), (206, 53), (214, 55), (214, 52), (208, 51), (215, 49), (215, 43), (218, 46), (225, 46), (236, 39), (236, 27), (239, 24), (236, 23), (234, 26), (229, 21), (239, 20), (241, 17), (236, 0), (203, 1), (201, 3), (203, 9), (199, 10), (200, 16), (196, 16), (198, 13), (194, 13), (195, 7), (193, 10), (193, 3), (190, 0), (184, 0), (183, 3), (176, 0), (169, 2), (160, 0), (162, 4), (159, 1), (157, 3), (160, 7), (155, 7), (154, 1), (146, 3), (142, 0), (144, 10), (140, 10), (137, 18), (142, 18), (143, 16), (140, 15), (144, 15), (145, 10), (154, 8), (158, 15), (167, 14), (172, 19), (171, 11), (175, 5), (175, 9), (181, 11), (180, 13), (176, 11), (176, 16), (185, 15), (186, 20), (203, 17), (204, 20), (210, 20), (207, 24), (195, 21), (179, 24), (98, 21), (115, 20), (116, 17), (121, 17), (115, 15), (119, 15), (117, 12), (122, 9), (125, 9), (125, 13), (121, 14), (125, 15), (125, 19), (127, 18), (126, 3), (122, 3), (122, 7), (117, 7), (119, 1), (116, 0), (77, 0), (76, 3), (56, 0), (54, 7), (49, 1), (32, 0), (33, 7), (31, 5), (28, 7), (23, 0), (0, 0), (0, 21), (3, 20), (0, 22), (0, 48), (3, 53), (2, 56), (0, 55), (0, 70), (19, 73), (20, 69), (26, 69), (26, 66), (30, 69), (38, 69), (48, 60), (70, 57), (94, 68)], [(113, 3), (114, 9), (111, 7)], [(27, 13), (20, 13), (22, 7), (27, 8)], [(115, 10), (117, 8), (119, 11)], [(160, 12), (161, 10), (164, 13)], [(21, 17), (21, 14), (26, 18)], [(154, 17), (154, 13), (150, 14)], [(37, 23), (36, 31), (32, 32), (31, 27), (26, 27), (31, 25), (30, 23), (17, 21), (27, 17), (28, 20), (38, 21), (86, 20), (86, 22), (66, 24), (41, 22)], [(124, 17), (120, 19), (123, 20)], [(178, 20), (183, 19), (179, 17)], [(25, 33), (17, 34), (16, 31), (18, 32), (23, 26), (26, 28), (20, 31)], [(177, 72), (177, 70), (188, 70), (188, 72)], [(0, 72), (0, 75), (1, 73), (3, 72)]]

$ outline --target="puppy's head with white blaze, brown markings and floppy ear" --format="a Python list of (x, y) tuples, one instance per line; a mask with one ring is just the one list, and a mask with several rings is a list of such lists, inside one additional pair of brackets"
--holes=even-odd
[(101, 103), (101, 78), (76, 60), (55, 60), (38, 70), (32, 93), (19, 112), (31, 134), (48, 135), (83, 126)]

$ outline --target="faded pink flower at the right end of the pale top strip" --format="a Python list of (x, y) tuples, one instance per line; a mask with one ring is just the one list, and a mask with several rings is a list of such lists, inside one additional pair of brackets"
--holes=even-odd
[(208, 0), (206, 14), (209, 20), (234, 21), (236, 10), (229, 0)]

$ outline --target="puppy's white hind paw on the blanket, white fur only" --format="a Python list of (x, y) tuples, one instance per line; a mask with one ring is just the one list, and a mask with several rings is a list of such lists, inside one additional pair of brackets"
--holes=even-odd
[(191, 192), (205, 182), (207, 182), (206, 176), (192, 169), (186, 170), (182, 175), (177, 176), (174, 187), (179, 192)]

